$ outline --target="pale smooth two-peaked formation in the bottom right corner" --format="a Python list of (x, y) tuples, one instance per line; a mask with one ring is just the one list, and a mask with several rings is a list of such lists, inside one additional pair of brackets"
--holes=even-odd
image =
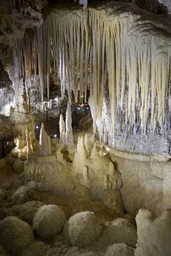
[(139, 256), (169, 256), (171, 254), (171, 210), (164, 210), (154, 218), (149, 210), (139, 210), (136, 215)]

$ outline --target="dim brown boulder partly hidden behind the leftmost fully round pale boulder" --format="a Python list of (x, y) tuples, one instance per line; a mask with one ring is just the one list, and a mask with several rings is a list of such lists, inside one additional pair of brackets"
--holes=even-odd
[(36, 212), (43, 205), (45, 204), (40, 201), (25, 202), (25, 204), (20, 207), (20, 218), (28, 224), (32, 224)]

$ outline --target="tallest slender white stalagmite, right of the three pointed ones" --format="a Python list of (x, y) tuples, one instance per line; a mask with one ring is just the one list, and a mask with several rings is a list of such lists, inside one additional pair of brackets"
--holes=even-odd
[(66, 112), (66, 144), (68, 146), (73, 145), (73, 134), (72, 134), (72, 112), (71, 112), (71, 103), (67, 104), (67, 112)]

